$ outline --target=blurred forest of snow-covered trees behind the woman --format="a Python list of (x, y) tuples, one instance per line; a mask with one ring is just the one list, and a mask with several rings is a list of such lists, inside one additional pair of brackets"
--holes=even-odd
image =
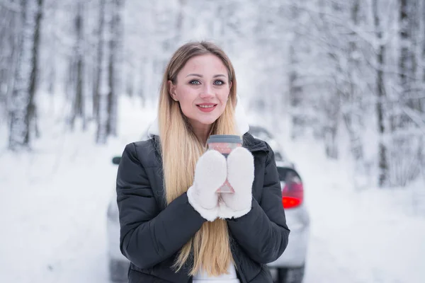
[[(156, 105), (172, 52), (212, 40), (237, 67), (250, 113), (348, 151), (379, 187), (425, 178), (421, 0), (0, 0), (0, 125), (10, 151), (43, 134), (40, 103), (93, 142), (120, 132), (120, 97)], [(150, 103), (150, 104), (149, 104)], [(344, 137), (344, 142), (341, 141)]]

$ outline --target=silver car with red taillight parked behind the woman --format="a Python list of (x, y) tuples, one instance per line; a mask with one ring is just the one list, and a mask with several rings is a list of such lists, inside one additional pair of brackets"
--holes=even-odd
[[(300, 174), (283, 154), (280, 144), (273, 135), (261, 126), (250, 126), (249, 132), (267, 141), (275, 152), (276, 165), (282, 185), (282, 204), (285, 207), (286, 221), (290, 229), (289, 243), (278, 260), (268, 264), (276, 283), (301, 283), (304, 277), (307, 243), (310, 231), (310, 217), (305, 207), (304, 187)], [(144, 134), (144, 139), (147, 133)], [(114, 164), (120, 163), (115, 156)], [(112, 282), (128, 282), (130, 262), (120, 252), (120, 223), (116, 192), (113, 190), (107, 213), (109, 276)]]

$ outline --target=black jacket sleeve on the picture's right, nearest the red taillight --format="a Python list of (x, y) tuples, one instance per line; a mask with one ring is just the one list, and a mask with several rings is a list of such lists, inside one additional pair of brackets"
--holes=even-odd
[(227, 222), (239, 246), (252, 260), (264, 264), (277, 260), (283, 254), (290, 233), (282, 205), (278, 169), (270, 146), (268, 149), (261, 203), (253, 197), (248, 214)]

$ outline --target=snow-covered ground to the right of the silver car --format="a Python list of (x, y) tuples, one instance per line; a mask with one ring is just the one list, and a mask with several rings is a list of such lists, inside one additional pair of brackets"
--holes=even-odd
[(349, 166), (326, 160), (314, 142), (288, 146), (311, 217), (305, 282), (425, 282), (425, 212), (412, 209), (423, 183), (358, 192)]

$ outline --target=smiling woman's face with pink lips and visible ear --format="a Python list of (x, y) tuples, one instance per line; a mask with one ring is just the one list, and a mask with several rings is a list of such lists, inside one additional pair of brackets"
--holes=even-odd
[(193, 57), (169, 81), (171, 98), (179, 101), (183, 114), (194, 128), (205, 128), (225, 111), (232, 83), (221, 59), (212, 54)]

